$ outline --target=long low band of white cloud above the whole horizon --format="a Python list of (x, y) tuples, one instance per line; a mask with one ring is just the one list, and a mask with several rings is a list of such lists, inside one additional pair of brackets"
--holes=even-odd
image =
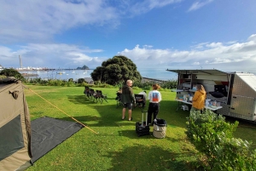
[[(135, 48), (125, 48), (117, 53), (130, 58), (138, 69), (219, 69), (223, 71), (255, 70), (256, 41), (250, 36), (243, 43), (198, 43), (191, 50), (160, 49), (152, 45), (136, 45)], [(19, 55), (23, 66), (40, 66), (53, 68), (76, 68), (78, 66), (101, 66), (102, 61), (110, 57), (101, 56), (102, 49), (57, 44), (30, 43), (26, 46), (6, 48), (0, 46), (1, 65), (19, 66)], [(111, 56), (112, 57), (112, 56)]]

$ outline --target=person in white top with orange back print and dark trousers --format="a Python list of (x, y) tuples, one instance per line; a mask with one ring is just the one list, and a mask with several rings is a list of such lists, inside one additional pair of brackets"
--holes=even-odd
[[(149, 105), (148, 105), (148, 123), (153, 125), (154, 119), (156, 119), (156, 116), (159, 112), (160, 109), (160, 101), (162, 100), (161, 94), (158, 91), (160, 88), (160, 85), (158, 83), (154, 83), (152, 85), (152, 89), (148, 93), (148, 100), (149, 100)], [(152, 121), (152, 114), (154, 114), (153, 121)]]

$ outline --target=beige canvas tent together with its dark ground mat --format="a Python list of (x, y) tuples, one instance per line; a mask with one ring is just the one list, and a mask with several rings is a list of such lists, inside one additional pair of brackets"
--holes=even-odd
[(32, 123), (23, 85), (0, 80), (0, 170), (25, 170), (83, 126), (50, 117)]

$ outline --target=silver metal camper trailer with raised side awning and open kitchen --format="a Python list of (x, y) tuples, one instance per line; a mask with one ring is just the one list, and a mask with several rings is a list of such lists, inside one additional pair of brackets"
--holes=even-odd
[[(177, 100), (193, 96), (202, 84), (207, 100), (218, 103), (221, 115), (256, 122), (256, 76), (252, 73), (218, 70), (166, 70), (177, 73)], [(183, 100), (184, 102), (187, 101)]]

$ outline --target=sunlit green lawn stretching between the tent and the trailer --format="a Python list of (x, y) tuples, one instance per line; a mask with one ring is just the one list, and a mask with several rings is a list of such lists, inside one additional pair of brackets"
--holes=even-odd
[[(191, 170), (195, 162), (195, 147), (187, 140), (186, 117), (189, 111), (177, 109), (175, 93), (161, 91), (159, 118), (166, 120), (166, 138), (156, 139), (152, 135), (138, 137), (135, 123), (141, 121), (139, 108), (132, 111), (133, 120), (121, 120), (122, 109), (116, 108), (116, 90), (114, 88), (95, 88), (108, 94), (108, 103), (94, 103), (84, 96), (83, 87), (26, 86), (40, 94), (44, 99), (56, 105), (68, 115), (86, 124), (78, 133), (44, 157), (40, 158), (27, 170)], [(139, 93), (140, 90), (134, 90)], [(55, 117), (73, 121), (62, 111), (49, 105), (32, 91), (25, 89), (26, 101), (31, 119)], [(148, 102), (147, 102), (148, 107)], [(233, 123), (235, 119), (227, 118)], [(252, 140), (256, 147), (256, 125), (241, 122), (235, 136), (243, 140)], [(96, 134), (96, 133), (97, 134)]]

